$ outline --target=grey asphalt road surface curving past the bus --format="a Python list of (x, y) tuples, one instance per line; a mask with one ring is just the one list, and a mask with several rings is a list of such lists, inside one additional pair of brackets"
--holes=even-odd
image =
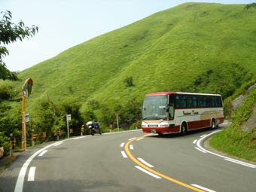
[(213, 153), (203, 140), (142, 130), (29, 148), (0, 176), (0, 191), (256, 191), (256, 164)]

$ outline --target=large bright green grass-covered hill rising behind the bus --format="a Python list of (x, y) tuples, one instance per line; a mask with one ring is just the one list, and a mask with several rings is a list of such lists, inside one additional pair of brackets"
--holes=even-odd
[(244, 5), (186, 3), (78, 44), (20, 73), (35, 83), (29, 108), (47, 97), (111, 108), (154, 91), (230, 96), (256, 72), (255, 17)]

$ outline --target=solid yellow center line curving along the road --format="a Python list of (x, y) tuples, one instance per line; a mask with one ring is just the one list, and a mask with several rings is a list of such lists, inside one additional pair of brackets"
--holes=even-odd
[[(136, 138), (136, 139), (141, 139), (141, 138), (144, 138), (144, 137), (145, 137), (145, 136), (142, 136), (142, 137), (139, 137), (139, 138)], [(189, 189), (191, 189), (191, 190), (194, 190), (194, 191), (205, 192), (205, 190), (200, 190), (200, 189), (197, 188), (197, 187), (193, 187), (193, 186), (191, 186), (191, 185), (189, 185), (189, 184), (185, 184), (185, 183), (183, 183), (183, 182), (181, 182), (181, 181), (176, 180), (175, 178), (170, 178), (170, 177), (168, 177), (168, 176), (166, 176), (166, 175), (163, 175), (162, 173), (157, 172), (157, 171), (155, 171), (154, 169), (149, 168), (148, 166), (145, 166), (145, 164), (141, 163), (139, 160), (137, 160), (135, 157), (133, 157), (133, 154), (131, 154), (131, 152), (130, 152), (130, 150), (129, 150), (129, 145), (130, 145), (132, 142), (135, 142), (136, 139), (133, 139), (133, 140), (131, 140), (131, 141), (129, 141), (129, 142), (126, 142), (126, 145), (124, 146), (124, 151), (126, 151), (127, 156), (130, 157), (130, 159), (133, 160), (134, 163), (136, 163), (137, 165), (141, 166), (143, 169), (146, 169), (146, 170), (148, 170), (149, 172), (154, 173), (155, 175), (158, 175), (158, 176), (160, 176), (160, 177), (162, 177), (162, 178), (165, 178), (165, 179), (167, 179), (167, 180), (169, 180), (169, 181), (172, 181), (172, 182), (175, 183), (175, 184), (180, 184), (181, 186), (187, 187), (187, 188), (189, 188)]]

